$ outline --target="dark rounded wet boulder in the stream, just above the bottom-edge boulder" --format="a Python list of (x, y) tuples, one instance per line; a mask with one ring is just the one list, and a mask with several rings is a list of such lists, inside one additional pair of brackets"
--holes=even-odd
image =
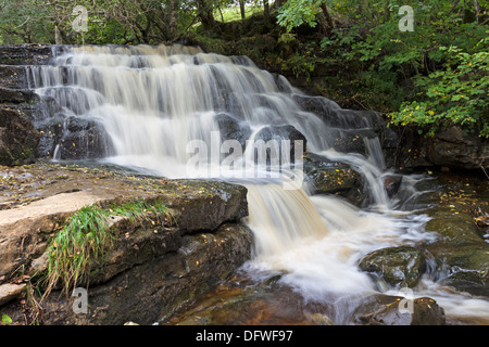
[(423, 250), (415, 247), (388, 247), (367, 254), (359, 267), (393, 287), (413, 287), (426, 270), (426, 258)]

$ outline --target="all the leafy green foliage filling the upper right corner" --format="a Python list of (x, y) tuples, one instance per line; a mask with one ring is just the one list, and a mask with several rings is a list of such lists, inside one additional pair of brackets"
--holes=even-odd
[[(449, 124), (489, 134), (487, 0), (365, 0), (360, 5), (288, 0), (278, 23), (291, 34), (299, 26), (314, 27), (321, 5), (335, 25), (321, 38), (315, 66), (341, 62), (343, 74), (352, 72), (347, 82), (361, 97), (359, 104), (388, 113), (392, 124), (415, 124), (431, 134)], [(412, 33), (399, 28), (401, 5), (414, 11)]]

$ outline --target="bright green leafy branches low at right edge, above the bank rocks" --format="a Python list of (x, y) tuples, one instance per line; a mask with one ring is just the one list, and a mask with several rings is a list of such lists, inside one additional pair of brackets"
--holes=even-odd
[(469, 54), (453, 46), (440, 51), (450, 57), (446, 68), (416, 79), (423, 90), (421, 101), (403, 103), (390, 114), (392, 123), (417, 124), (428, 134), (442, 126), (461, 125), (489, 138), (489, 53)]

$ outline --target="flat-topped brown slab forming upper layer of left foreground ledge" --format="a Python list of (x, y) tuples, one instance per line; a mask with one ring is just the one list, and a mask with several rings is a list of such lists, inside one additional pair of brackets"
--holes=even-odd
[(50, 236), (84, 206), (161, 198), (185, 234), (247, 216), (246, 195), (236, 184), (129, 175), (103, 165), (0, 166), (0, 284), (41, 256)]

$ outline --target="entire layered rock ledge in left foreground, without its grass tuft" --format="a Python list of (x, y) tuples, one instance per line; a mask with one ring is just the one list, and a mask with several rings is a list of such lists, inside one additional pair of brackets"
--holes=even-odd
[[(151, 324), (201, 297), (250, 256), (243, 187), (122, 175), (106, 167), (36, 164), (0, 169), (0, 307), (13, 323)], [(91, 266), (88, 312), (55, 287), (41, 301), (48, 245), (84, 206), (160, 200), (168, 218), (115, 218), (103, 261)]]

